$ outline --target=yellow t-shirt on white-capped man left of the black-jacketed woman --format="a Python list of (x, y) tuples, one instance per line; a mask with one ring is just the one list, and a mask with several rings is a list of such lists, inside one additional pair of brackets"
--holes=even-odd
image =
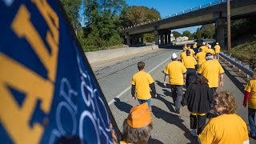
[(186, 67), (182, 62), (173, 61), (168, 63), (164, 70), (165, 74), (169, 75), (169, 82), (171, 85), (183, 85), (183, 74), (186, 73)]

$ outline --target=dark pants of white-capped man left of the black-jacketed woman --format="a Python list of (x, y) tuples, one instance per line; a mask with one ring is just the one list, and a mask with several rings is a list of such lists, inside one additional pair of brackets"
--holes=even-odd
[(172, 96), (175, 99), (175, 108), (180, 109), (182, 106), (182, 88), (183, 85), (170, 85)]

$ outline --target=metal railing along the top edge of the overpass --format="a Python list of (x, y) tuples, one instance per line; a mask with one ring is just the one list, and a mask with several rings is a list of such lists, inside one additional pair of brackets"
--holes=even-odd
[[(178, 13), (175, 13), (175, 14), (170, 14), (169, 16), (165, 16), (164, 18), (158, 18), (158, 20), (153, 20), (153, 22), (164, 20), (166, 18), (172, 18), (172, 17), (178, 16), (178, 15), (181, 15), (181, 14), (186, 14), (186, 13), (189, 13), (189, 12), (192, 12), (192, 11), (195, 11), (195, 10), (204, 9), (206, 7), (218, 5), (218, 4), (221, 4), (221, 3), (224, 3), (224, 2), (226, 2), (226, 0), (218, 0), (218, 1), (215, 1), (215, 2), (210, 2), (210, 3), (202, 5), (202, 6), (197, 6), (197, 7), (194, 7), (194, 8), (190, 8), (189, 10), (182, 10), (181, 12), (178, 12)], [(136, 26), (142, 26), (142, 25), (145, 25), (145, 24), (148, 24), (148, 23), (151, 23), (151, 22), (142, 22), (140, 24), (136, 24), (135, 26), (128, 26), (128, 27), (124, 28), (123, 30), (134, 28)]]

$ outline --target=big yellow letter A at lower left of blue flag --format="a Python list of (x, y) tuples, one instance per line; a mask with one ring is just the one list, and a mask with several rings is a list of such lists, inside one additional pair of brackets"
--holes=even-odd
[[(0, 121), (14, 143), (39, 143), (44, 128), (39, 123), (30, 126), (30, 118), (38, 100), (42, 101), (41, 109), (46, 114), (50, 112), (53, 83), (2, 53), (0, 66)], [(7, 86), (26, 94), (22, 106)]]

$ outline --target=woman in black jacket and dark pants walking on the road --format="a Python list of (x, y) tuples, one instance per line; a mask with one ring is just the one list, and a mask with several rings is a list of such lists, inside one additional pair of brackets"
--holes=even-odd
[(196, 74), (183, 98), (183, 106), (187, 105), (190, 111), (190, 134), (193, 136), (201, 134), (206, 126), (206, 114), (210, 112), (210, 105), (213, 102), (214, 93), (207, 82), (202, 74)]

